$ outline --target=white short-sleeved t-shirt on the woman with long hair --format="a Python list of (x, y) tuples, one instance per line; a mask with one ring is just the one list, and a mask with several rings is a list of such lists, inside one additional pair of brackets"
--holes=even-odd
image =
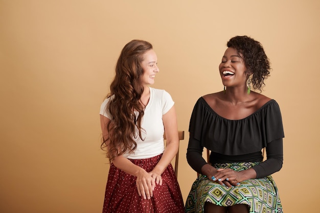
[[(150, 100), (145, 108), (142, 120), (142, 138), (136, 138), (137, 148), (134, 153), (127, 153), (124, 156), (129, 159), (145, 159), (162, 154), (164, 145), (164, 125), (162, 116), (174, 105), (170, 94), (163, 89), (150, 88)], [(110, 98), (109, 98), (110, 99)], [(104, 100), (100, 107), (100, 114), (112, 120), (109, 110), (105, 110), (109, 99)]]

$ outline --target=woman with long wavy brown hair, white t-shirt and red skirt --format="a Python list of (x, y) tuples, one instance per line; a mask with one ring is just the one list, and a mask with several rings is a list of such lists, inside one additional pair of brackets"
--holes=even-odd
[(158, 72), (149, 42), (124, 46), (100, 109), (102, 148), (111, 162), (103, 213), (185, 211), (170, 163), (179, 147), (174, 102), (167, 91), (148, 86)]

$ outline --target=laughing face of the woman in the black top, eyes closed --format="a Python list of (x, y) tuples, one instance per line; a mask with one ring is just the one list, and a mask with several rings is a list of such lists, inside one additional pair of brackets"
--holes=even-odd
[(236, 49), (226, 49), (219, 65), (219, 71), (224, 86), (246, 86), (246, 66)]

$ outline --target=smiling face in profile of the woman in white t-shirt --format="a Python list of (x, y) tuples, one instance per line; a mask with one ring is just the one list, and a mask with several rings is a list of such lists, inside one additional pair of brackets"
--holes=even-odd
[(144, 85), (154, 84), (155, 74), (159, 72), (157, 67), (157, 57), (154, 50), (148, 50), (143, 54), (141, 62), (144, 73), (142, 75), (142, 83)]

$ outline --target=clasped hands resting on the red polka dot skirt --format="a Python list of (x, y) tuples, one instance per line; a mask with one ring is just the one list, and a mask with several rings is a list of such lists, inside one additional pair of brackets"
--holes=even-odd
[(153, 171), (146, 172), (143, 170), (136, 177), (136, 188), (138, 189), (139, 196), (144, 199), (150, 199), (153, 196), (153, 191), (156, 184), (162, 185), (162, 177)]

